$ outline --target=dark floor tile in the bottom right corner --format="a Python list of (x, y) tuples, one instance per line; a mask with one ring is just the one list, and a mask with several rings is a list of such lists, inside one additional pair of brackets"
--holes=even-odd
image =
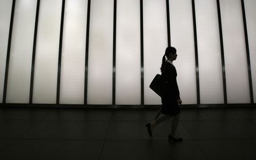
[(198, 140), (210, 160), (254, 160), (256, 140)]

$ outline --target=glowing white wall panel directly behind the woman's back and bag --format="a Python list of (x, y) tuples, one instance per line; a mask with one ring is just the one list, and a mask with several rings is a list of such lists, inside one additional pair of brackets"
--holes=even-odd
[(166, 1), (143, 1), (144, 30), (144, 104), (161, 104), (160, 97), (149, 86), (160, 73), (162, 57), (168, 46)]

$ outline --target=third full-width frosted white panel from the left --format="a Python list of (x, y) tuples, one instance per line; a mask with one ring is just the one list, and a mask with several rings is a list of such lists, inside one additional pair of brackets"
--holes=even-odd
[(84, 0), (65, 1), (60, 103), (84, 104), (87, 4)]

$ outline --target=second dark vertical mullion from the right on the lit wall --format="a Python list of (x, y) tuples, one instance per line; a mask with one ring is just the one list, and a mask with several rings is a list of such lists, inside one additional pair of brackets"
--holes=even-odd
[(224, 91), (224, 104), (227, 104), (227, 95), (226, 95), (226, 71), (225, 71), (225, 58), (224, 58), (223, 36), (222, 36), (220, 0), (216, 0), (216, 1), (217, 1), (217, 10), (218, 10), (218, 27), (219, 27), (219, 31), (220, 31), (220, 45), (221, 45), (221, 63), (222, 63), (222, 79), (223, 79), (223, 91)]

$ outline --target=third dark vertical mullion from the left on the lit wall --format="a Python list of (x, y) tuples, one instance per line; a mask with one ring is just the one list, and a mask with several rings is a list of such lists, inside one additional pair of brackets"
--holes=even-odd
[(59, 43), (59, 58), (58, 58), (58, 75), (57, 75), (57, 97), (56, 104), (60, 103), (60, 71), (61, 71), (61, 52), (63, 39), (63, 22), (64, 22), (65, 0), (62, 1), (61, 22), (60, 22), (60, 43)]

